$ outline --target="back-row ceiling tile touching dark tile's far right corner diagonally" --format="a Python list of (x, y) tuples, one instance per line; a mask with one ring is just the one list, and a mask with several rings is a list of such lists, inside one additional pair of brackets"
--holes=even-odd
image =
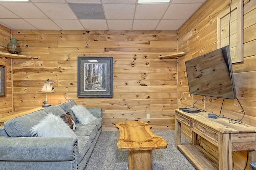
[(111, 30), (131, 30), (132, 20), (107, 20), (108, 28)]

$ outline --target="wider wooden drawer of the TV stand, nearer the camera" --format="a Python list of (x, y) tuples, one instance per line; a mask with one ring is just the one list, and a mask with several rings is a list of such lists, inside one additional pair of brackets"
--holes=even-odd
[(213, 131), (212, 129), (200, 125), (196, 122), (193, 122), (193, 129), (197, 131), (199, 135), (202, 135), (209, 142), (213, 142), (214, 144), (218, 143), (218, 133)]

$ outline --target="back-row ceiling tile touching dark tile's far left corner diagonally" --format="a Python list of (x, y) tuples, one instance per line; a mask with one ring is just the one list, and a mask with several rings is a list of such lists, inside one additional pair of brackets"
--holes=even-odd
[(79, 20), (52, 20), (63, 30), (83, 30)]

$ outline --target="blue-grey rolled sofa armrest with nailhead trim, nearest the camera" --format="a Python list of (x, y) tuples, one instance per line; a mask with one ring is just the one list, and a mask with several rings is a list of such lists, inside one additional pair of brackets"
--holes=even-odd
[(74, 160), (77, 148), (72, 137), (0, 137), (0, 161)]

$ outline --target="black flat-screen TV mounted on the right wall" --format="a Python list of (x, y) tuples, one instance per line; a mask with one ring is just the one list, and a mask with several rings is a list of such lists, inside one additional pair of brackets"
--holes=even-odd
[(229, 46), (185, 62), (190, 94), (236, 99)]

